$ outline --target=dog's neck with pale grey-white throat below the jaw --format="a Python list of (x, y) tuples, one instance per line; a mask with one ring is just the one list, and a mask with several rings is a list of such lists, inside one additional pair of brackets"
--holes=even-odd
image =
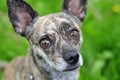
[(38, 80), (39, 76), (36, 75), (41, 74), (42, 77), (46, 78), (45, 80), (77, 80), (79, 76), (79, 70), (68, 72), (56, 71), (55, 69), (51, 68), (49, 64), (46, 64), (44, 60), (35, 57), (33, 51), (31, 51), (31, 53), (29, 54), (29, 58), (27, 61), (31, 69), (30, 71), (32, 72), (30, 77), (38, 77)]

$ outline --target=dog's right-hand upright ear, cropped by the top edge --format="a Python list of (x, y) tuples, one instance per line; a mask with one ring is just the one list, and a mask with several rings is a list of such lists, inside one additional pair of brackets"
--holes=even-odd
[(86, 16), (86, 4), (87, 0), (64, 0), (63, 10), (67, 10), (83, 21)]

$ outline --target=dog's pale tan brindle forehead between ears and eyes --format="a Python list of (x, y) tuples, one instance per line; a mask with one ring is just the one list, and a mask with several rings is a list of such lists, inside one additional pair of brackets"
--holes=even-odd
[(40, 34), (45, 32), (53, 33), (54, 31), (59, 32), (61, 23), (68, 23), (79, 29), (79, 24), (73, 21), (73, 19), (65, 13), (50, 14), (47, 16), (38, 17), (34, 23), (34, 28), (36, 29), (35, 31)]

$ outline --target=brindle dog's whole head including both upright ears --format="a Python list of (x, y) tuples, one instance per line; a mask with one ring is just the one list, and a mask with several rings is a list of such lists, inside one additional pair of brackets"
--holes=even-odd
[[(82, 64), (81, 23), (86, 15), (87, 0), (64, 0), (63, 11), (39, 16), (23, 0), (7, 0), (9, 18), (15, 31), (26, 37), (33, 55), (44, 67), (71, 71)], [(44, 63), (44, 64), (43, 64)]]

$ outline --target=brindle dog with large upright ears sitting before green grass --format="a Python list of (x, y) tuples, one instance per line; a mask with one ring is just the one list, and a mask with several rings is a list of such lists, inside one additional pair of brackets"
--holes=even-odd
[(10, 22), (30, 48), (8, 64), (3, 80), (78, 80), (86, 5), (87, 0), (64, 0), (62, 12), (39, 16), (25, 1), (7, 0)]

